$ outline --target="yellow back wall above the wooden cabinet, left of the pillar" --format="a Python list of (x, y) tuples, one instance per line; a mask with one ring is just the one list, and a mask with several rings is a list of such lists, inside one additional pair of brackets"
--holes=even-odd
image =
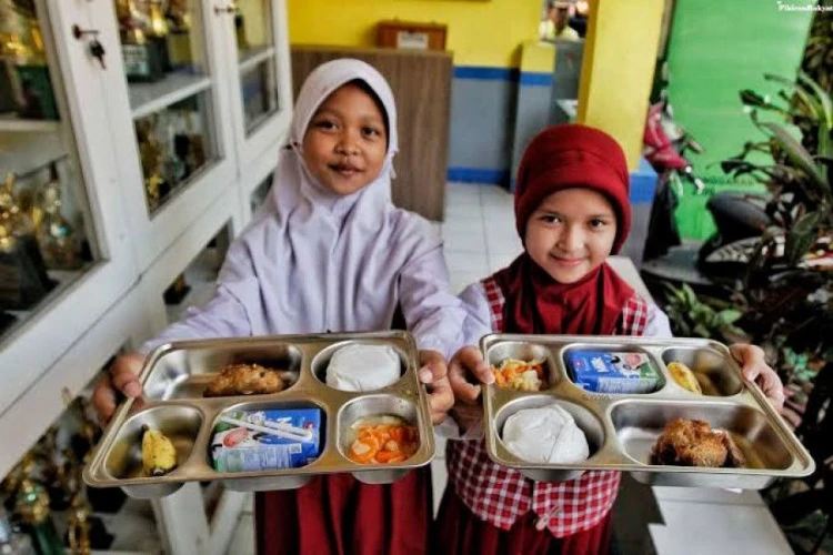
[(372, 47), (384, 19), (449, 26), (456, 65), (516, 68), (521, 42), (534, 39), (538, 0), (289, 0), (293, 44)]

